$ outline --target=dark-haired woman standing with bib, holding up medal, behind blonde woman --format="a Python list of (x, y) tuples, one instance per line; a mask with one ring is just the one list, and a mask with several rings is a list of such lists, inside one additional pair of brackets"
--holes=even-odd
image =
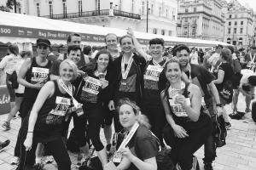
[(96, 148), (97, 156), (102, 162), (102, 166), (107, 163), (107, 152), (104, 149), (100, 139), (101, 125), (104, 116), (108, 111), (109, 88), (108, 83), (111, 77), (109, 66), (111, 65), (111, 55), (108, 51), (103, 50), (96, 54), (96, 68), (87, 70), (84, 66), (82, 71), (86, 71), (87, 76), (81, 77), (78, 88), (79, 102), (82, 103), (84, 109), (84, 116), (89, 124), (89, 138)]

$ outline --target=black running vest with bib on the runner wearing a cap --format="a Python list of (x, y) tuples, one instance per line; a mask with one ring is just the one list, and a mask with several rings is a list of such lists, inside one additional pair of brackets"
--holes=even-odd
[[(36, 84), (38, 82), (49, 81), (49, 68), (51, 67), (51, 61), (48, 61), (47, 65), (40, 66), (36, 62), (36, 58), (32, 58), (32, 64), (28, 71), (26, 71), (26, 82)], [(37, 99), (40, 89), (36, 88), (25, 88), (24, 97), (26, 99)]]

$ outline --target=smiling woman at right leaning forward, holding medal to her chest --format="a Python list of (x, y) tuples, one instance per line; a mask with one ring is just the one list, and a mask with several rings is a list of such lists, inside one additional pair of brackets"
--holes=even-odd
[(164, 71), (169, 82), (160, 94), (168, 122), (164, 139), (172, 147), (174, 165), (178, 163), (181, 169), (190, 170), (193, 154), (212, 133), (212, 122), (199, 102), (202, 98), (200, 88), (182, 81), (178, 59), (167, 61)]

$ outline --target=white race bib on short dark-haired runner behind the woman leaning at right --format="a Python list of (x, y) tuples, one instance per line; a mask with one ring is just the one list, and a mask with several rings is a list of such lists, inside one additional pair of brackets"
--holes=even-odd
[(145, 80), (159, 81), (160, 73), (163, 71), (163, 67), (156, 65), (148, 65), (146, 73), (144, 75)]

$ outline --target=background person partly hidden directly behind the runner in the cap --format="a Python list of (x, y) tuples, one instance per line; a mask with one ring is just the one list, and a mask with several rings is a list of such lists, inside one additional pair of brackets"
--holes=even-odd
[[(15, 65), (16, 72), (20, 71), (21, 65), (27, 58), (32, 58), (32, 52), (31, 51), (22, 51), (20, 53), (20, 57), (21, 57), (21, 59), (19, 61), (17, 61), (16, 65)], [(25, 87), (22, 86), (21, 84), (19, 84), (19, 87), (15, 89), (15, 106), (9, 112), (9, 115), (8, 115), (6, 121), (3, 122), (2, 127), (4, 130), (10, 129), (10, 121), (12, 120), (12, 118), (15, 116), (15, 114), (20, 109), (20, 103), (24, 97), (24, 89), (25, 89)]]

